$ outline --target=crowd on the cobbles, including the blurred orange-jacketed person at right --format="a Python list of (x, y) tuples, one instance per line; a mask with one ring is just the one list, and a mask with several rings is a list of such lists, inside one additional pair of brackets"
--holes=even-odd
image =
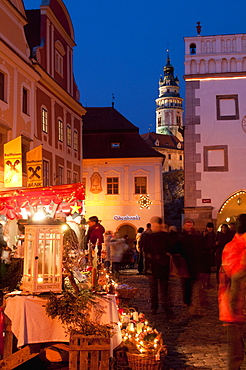
[[(240, 370), (244, 361), (246, 338), (246, 214), (238, 216), (236, 223), (223, 224), (219, 231), (208, 222), (203, 232), (195, 229), (192, 220), (185, 220), (182, 230), (163, 224), (160, 217), (137, 230), (133, 248), (127, 236), (105, 233), (105, 265), (119, 274), (124, 254), (130, 249), (137, 255), (138, 273), (149, 275), (151, 313), (159, 309), (159, 293), (163, 310), (168, 315), (168, 283), (170, 259), (181, 256), (188, 270), (181, 276), (183, 304), (193, 308), (194, 286), (210, 289), (211, 268), (216, 271), (219, 319), (227, 328), (228, 370)], [(135, 251), (134, 251), (135, 249)], [(160, 291), (159, 291), (160, 289)], [(200, 302), (202, 303), (202, 302)], [(192, 313), (192, 311), (190, 311)]]

